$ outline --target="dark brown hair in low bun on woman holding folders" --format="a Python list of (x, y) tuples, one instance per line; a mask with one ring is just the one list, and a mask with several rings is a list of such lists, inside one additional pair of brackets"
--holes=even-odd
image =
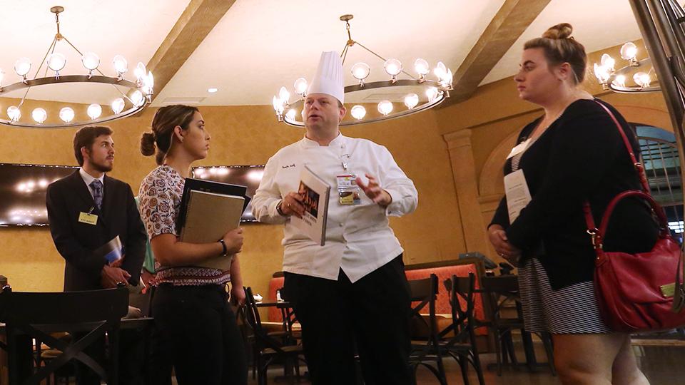
[(164, 106), (157, 110), (152, 119), (152, 132), (143, 133), (141, 137), (141, 153), (150, 156), (157, 152), (156, 162), (161, 165), (173, 142), (173, 129), (178, 125), (188, 130), (193, 116), (199, 112), (197, 107), (176, 104)]

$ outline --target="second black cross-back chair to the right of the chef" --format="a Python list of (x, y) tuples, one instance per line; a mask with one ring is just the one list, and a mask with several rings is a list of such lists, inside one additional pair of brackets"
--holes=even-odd
[[(474, 317), (475, 274), (469, 277), (457, 277), (445, 280), (445, 288), (450, 292), (450, 307), (452, 309), (452, 324), (438, 334), (440, 344), (447, 354), (452, 356), (460, 365), (464, 384), (469, 384), (469, 364), (476, 370), (478, 383), (485, 384), (483, 369), (478, 356), (475, 328), (477, 322)], [(463, 304), (462, 304), (463, 302)]]

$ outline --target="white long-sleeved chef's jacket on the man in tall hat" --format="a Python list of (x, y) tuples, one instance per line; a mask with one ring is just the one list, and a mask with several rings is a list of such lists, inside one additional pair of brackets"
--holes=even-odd
[[(310, 240), (276, 210), (285, 195), (298, 190), (303, 165), (331, 186), (325, 246)], [(335, 177), (346, 173), (355, 173), (364, 183), (365, 173), (374, 176), (392, 203), (380, 207), (360, 190), (360, 205), (340, 205)], [(268, 160), (252, 211), (260, 222), (285, 223), (283, 271), (337, 280), (342, 268), (356, 282), (403, 252), (387, 217), (414, 211), (417, 196), (412, 180), (382, 145), (343, 135), (328, 146), (303, 138)]]

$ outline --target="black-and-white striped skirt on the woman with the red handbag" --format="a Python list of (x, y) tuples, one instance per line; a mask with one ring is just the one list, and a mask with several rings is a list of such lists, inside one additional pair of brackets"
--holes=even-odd
[(529, 258), (519, 267), (519, 291), (529, 332), (611, 332), (599, 315), (592, 281), (552, 290), (542, 264), (537, 258)]

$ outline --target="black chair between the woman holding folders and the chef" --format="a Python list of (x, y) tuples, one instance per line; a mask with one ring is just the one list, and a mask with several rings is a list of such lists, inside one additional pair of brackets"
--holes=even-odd
[[(267, 370), (270, 364), (279, 360), (284, 364), (285, 373), (290, 375), (291, 368), (295, 369), (296, 376), (300, 375), (300, 361), (306, 363), (301, 357), (302, 346), (285, 344), (283, 339), (276, 339), (268, 334), (262, 327), (257, 303), (250, 287), (245, 287), (245, 320), (254, 334), (254, 347), (257, 362), (257, 382), (260, 385), (267, 384)], [(291, 377), (292, 379), (292, 377)]]

